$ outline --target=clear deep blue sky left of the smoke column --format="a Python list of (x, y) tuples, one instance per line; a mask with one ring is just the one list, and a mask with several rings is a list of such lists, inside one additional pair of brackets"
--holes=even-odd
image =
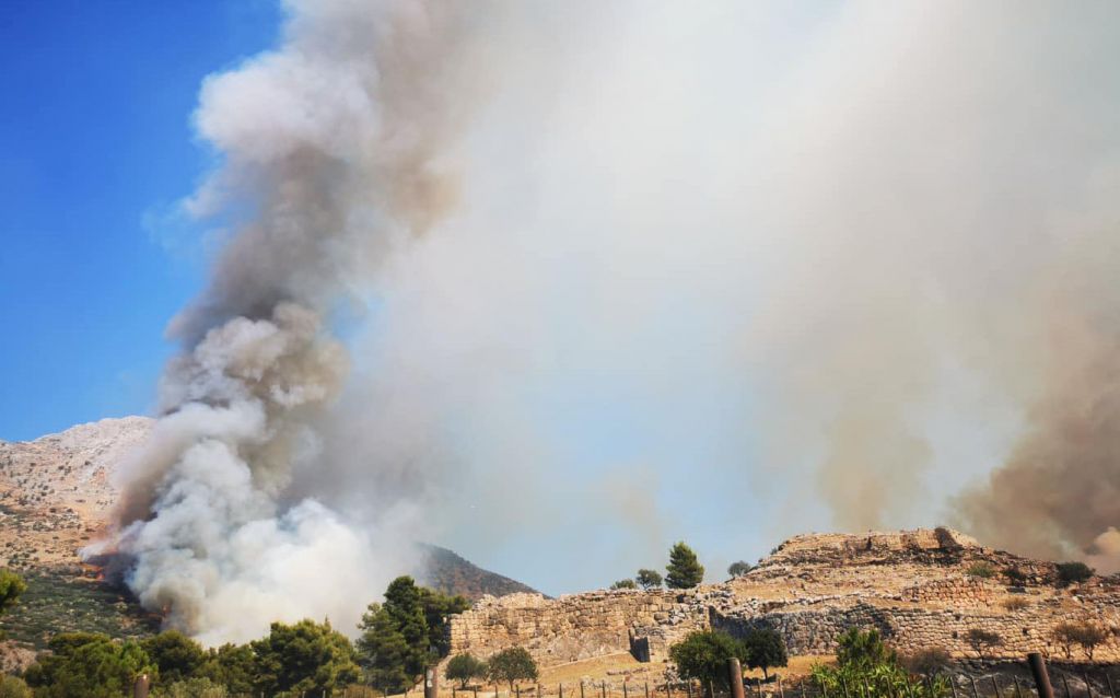
[(207, 168), (203, 77), (270, 46), (278, 21), (261, 0), (6, 6), (0, 438), (150, 409), (162, 328), (203, 269), (146, 221)]

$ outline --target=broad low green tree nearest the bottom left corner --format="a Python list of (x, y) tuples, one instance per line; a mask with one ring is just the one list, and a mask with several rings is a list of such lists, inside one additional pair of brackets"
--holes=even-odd
[(52, 654), (28, 668), (37, 698), (118, 698), (136, 679), (156, 677), (155, 664), (136, 642), (114, 642), (100, 633), (62, 633), (47, 643)]

